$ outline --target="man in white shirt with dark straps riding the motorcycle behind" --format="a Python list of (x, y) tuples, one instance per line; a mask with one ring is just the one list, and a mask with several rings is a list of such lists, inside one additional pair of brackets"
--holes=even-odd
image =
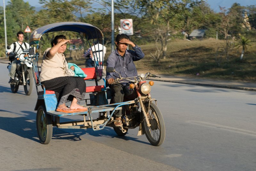
[[(28, 49), (29, 48), (29, 44), (26, 43), (26, 42), (23, 42), (24, 34), (23, 34), (22, 31), (19, 31), (17, 33), (17, 38), (18, 38), (18, 41), (12, 43), (11, 44), (11, 48), (6, 50), (6, 54), (8, 56), (9, 56), (10, 52), (15, 51), (17, 54), (19, 54), (24, 49)], [(11, 78), (10, 78), (8, 83), (11, 84), (13, 82), (13, 80), (14, 80), (14, 75), (15, 75), (16, 68), (18, 68), (19, 65), (20, 65), (20, 61), (16, 60), (15, 58), (14, 59), (10, 59), (9, 58), (9, 60), (11, 61), (12, 65), (11, 65), (11, 71), (9, 73), (9, 76)]]

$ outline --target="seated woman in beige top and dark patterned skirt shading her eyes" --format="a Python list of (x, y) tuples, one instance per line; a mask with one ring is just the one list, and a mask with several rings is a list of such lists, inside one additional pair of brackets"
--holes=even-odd
[[(56, 111), (73, 113), (86, 111), (87, 108), (77, 104), (85, 97), (86, 84), (82, 77), (68, 76), (67, 63), (64, 52), (67, 48), (67, 40), (64, 35), (58, 35), (51, 42), (52, 48), (47, 48), (44, 52), (41, 66), (40, 80), (46, 90), (55, 91), (58, 107)], [(74, 68), (71, 68), (74, 70)], [(72, 72), (72, 71), (71, 71)], [(68, 97), (72, 98), (70, 108), (65, 102)]]

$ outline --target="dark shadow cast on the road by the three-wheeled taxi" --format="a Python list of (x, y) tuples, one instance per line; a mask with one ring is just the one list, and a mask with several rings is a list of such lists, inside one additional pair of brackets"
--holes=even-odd
[[(36, 120), (30, 118), (36, 118), (36, 113), (31, 111), (20, 111), (20, 113), (13, 113), (7, 110), (1, 110), (0, 112), (9, 112), (12, 114), (20, 115), (13, 117), (2, 117), (0, 115), (0, 129), (11, 132), (23, 138), (40, 143), (37, 138)], [(1, 113), (0, 113), (1, 114)], [(69, 120), (69, 119), (65, 119)], [(71, 120), (70, 120), (71, 121)], [(111, 127), (105, 127), (103, 130), (94, 131), (92, 129), (58, 129), (53, 127), (52, 139), (63, 139), (69, 141), (80, 141), (82, 135), (89, 134), (93, 137), (105, 137), (105, 138), (120, 138), (126, 141), (136, 141), (143, 144), (150, 144), (148, 142), (140, 141), (139, 138), (129, 137), (129, 132), (126, 136), (118, 136)]]

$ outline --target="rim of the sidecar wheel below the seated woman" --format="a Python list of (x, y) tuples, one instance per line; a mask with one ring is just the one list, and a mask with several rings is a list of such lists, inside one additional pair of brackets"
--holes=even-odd
[(38, 113), (38, 131), (39, 136), (42, 139), (42, 141), (45, 141), (46, 135), (47, 135), (47, 122), (46, 122), (46, 115), (44, 114), (44, 111), (41, 109)]

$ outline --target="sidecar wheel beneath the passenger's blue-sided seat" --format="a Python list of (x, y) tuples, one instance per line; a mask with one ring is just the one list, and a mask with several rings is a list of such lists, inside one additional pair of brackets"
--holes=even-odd
[(40, 106), (36, 113), (36, 129), (40, 142), (49, 144), (52, 139), (52, 117), (46, 114), (44, 106)]

